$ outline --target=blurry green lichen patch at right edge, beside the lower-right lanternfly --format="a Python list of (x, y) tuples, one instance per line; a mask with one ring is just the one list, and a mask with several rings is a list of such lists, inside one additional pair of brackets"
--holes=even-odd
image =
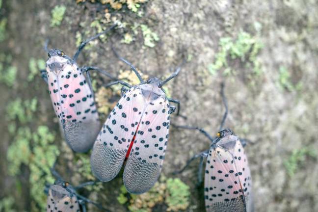
[(295, 149), (291, 152), (289, 159), (285, 160), (284, 165), (287, 174), (293, 177), (296, 171), (304, 165), (307, 158), (317, 158), (317, 152), (308, 147), (303, 147), (301, 149)]

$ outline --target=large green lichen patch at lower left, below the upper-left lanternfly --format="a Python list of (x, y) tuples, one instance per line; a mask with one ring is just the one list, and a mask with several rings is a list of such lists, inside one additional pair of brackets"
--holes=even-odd
[(35, 132), (28, 127), (21, 127), (7, 151), (10, 175), (17, 176), (22, 164), (29, 166), (30, 194), (35, 201), (32, 211), (45, 209), (47, 196), (43, 190), (46, 183), (54, 182), (50, 167), (59, 154), (54, 138), (47, 126), (39, 126)]

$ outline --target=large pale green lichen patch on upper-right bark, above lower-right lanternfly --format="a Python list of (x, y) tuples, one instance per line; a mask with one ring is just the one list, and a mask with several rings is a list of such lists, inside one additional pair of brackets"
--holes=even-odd
[(251, 34), (241, 31), (237, 39), (231, 37), (220, 38), (219, 51), (215, 54), (214, 63), (208, 65), (212, 75), (223, 70), (224, 75), (234, 74), (231, 62), (239, 59), (246, 68), (252, 70), (255, 75), (262, 73), (261, 63), (257, 58), (263, 44)]

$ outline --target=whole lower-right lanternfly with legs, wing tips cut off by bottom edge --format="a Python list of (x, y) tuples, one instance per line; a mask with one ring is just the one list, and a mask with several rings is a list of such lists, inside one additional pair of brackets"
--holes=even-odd
[[(220, 129), (223, 127), (228, 111), (223, 87), (224, 85), (222, 85), (221, 93), (226, 112)], [(193, 159), (201, 157), (200, 180), (203, 158), (207, 158), (204, 181), (207, 212), (253, 211), (252, 179), (243, 148), (246, 144), (244, 139), (239, 139), (230, 129), (221, 130), (217, 133), (216, 138), (212, 138), (208, 132), (198, 127), (173, 126), (188, 130), (198, 130), (212, 141), (210, 150), (195, 155), (186, 164), (188, 166)]]

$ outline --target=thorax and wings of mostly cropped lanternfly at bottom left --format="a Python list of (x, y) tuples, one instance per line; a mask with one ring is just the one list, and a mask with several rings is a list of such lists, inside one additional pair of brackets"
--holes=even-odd
[(79, 212), (79, 202), (74, 194), (71, 194), (60, 185), (51, 185), (49, 189), (47, 212)]

